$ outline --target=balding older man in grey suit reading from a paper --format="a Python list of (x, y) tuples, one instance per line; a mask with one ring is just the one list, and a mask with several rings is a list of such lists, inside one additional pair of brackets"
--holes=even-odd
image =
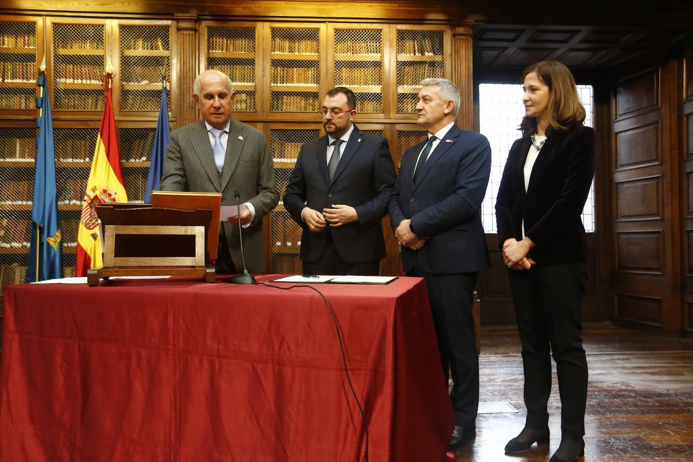
[[(245, 263), (251, 273), (265, 272), (262, 218), (279, 202), (272, 154), (259, 130), (231, 119), (236, 92), (229, 76), (204, 71), (195, 78), (195, 104), (202, 121), (174, 130), (168, 141), (161, 189), (222, 193), (222, 205), (234, 205), (240, 192)], [(238, 216), (222, 222), (218, 273), (243, 271)]]

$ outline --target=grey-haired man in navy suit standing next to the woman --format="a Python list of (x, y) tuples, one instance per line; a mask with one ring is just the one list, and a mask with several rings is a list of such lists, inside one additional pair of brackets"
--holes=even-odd
[(476, 432), (479, 356), (472, 317), (477, 273), (491, 267), (480, 207), (491, 171), (491, 147), (482, 134), (455, 125), (459, 89), (446, 79), (421, 82), (416, 123), (428, 142), (405, 152), (389, 203), (407, 276), (426, 280), (448, 384), (455, 429), (450, 450)]

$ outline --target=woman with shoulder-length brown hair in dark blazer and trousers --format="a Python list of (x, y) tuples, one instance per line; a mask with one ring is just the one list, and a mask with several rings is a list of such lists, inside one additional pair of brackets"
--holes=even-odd
[(556, 61), (524, 73), (523, 137), (510, 148), (495, 203), (498, 241), (522, 342), (525, 428), (505, 446), (524, 452), (549, 441), (551, 357), (561, 396), (561, 445), (550, 462), (584, 454), (587, 360), (581, 303), (587, 239), (580, 215), (595, 173), (595, 132), (575, 80)]

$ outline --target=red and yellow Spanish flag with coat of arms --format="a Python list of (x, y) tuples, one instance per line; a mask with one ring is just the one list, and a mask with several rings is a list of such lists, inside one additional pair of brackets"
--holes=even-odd
[(105, 75), (106, 101), (98, 129), (98, 139), (91, 161), (91, 172), (87, 181), (87, 193), (82, 204), (82, 215), (77, 235), (76, 276), (87, 276), (91, 268), (103, 266), (101, 238), (98, 229), (96, 206), (102, 202), (128, 202), (118, 155), (116, 121), (113, 117), (113, 69), (109, 62)]

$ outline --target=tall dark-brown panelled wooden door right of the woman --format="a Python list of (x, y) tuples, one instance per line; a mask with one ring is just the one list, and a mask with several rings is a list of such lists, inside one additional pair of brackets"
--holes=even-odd
[(613, 93), (615, 321), (676, 332), (678, 178), (672, 63), (616, 82)]

